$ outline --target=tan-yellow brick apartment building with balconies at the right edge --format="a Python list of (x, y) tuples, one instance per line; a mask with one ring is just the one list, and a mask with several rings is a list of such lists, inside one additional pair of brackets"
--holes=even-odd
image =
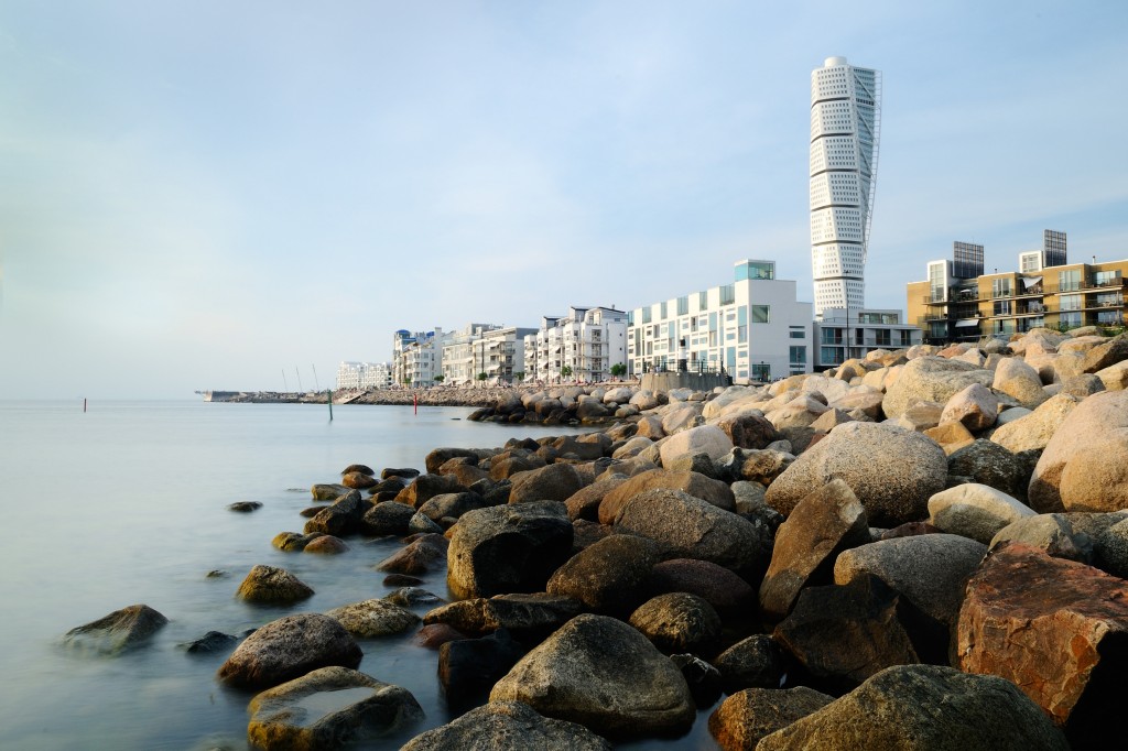
[(1065, 232), (1054, 230), (1043, 232), (1041, 250), (1019, 254), (1017, 272), (984, 274), (979, 267), (964, 276), (954, 260), (931, 260), (927, 279), (906, 288), (909, 318), (928, 344), (977, 342), (1042, 326), (1122, 326), (1128, 260), (1066, 260)]

